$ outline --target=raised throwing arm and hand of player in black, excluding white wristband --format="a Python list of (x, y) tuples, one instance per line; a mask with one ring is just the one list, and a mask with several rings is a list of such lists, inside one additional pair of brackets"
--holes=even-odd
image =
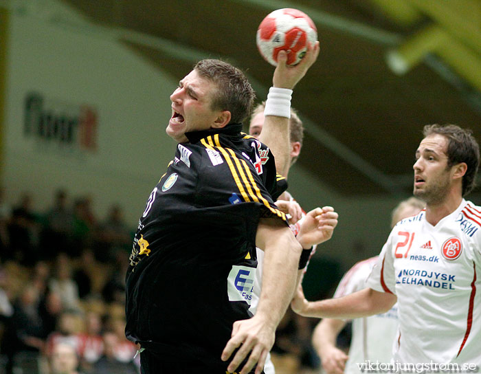
[[(287, 65), (287, 53), (280, 51), (278, 54), (278, 66), (274, 70), (273, 87), (293, 89), (295, 85), (309, 70), (309, 67), (317, 60), (319, 55), (319, 42), (315, 45), (309, 43), (304, 58), (298, 65)], [(259, 140), (269, 146), (276, 159), (276, 170), (282, 175), (287, 175), (290, 163), (291, 137), (289, 131), (289, 118), (278, 115), (266, 115)]]

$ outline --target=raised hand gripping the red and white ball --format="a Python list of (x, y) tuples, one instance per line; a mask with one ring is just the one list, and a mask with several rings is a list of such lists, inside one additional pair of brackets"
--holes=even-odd
[(287, 53), (279, 51), (278, 65), (272, 77), (273, 87), (293, 89), (319, 56), (319, 42), (308, 43), (307, 52), (298, 65), (287, 65)]

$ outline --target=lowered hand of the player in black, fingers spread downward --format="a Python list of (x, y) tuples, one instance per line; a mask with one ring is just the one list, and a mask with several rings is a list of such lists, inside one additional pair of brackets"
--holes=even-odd
[(264, 368), (267, 353), (271, 350), (275, 338), (276, 327), (269, 320), (264, 320), (258, 316), (258, 314), (248, 320), (236, 321), (232, 329), (232, 338), (225, 345), (221, 359), (227, 361), (238, 348), (236, 355), (229, 366), (227, 366), (227, 370), (233, 373), (240, 363), (249, 357), (240, 374), (249, 373), (256, 364), (255, 373), (260, 374)]

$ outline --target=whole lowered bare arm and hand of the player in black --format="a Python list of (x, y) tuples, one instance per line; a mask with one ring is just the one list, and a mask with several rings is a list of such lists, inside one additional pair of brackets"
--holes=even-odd
[(221, 356), (226, 361), (240, 347), (227, 367), (230, 373), (236, 371), (247, 356), (249, 359), (240, 374), (249, 373), (256, 364), (255, 373), (262, 372), (267, 353), (274, 344), (276, 327), (295, 290), (302, 248), (291, 230), (276, 219), (260, 219), (256, 245), (265, 252), (259, 305), (254, 317), (234, 322), (232, 338)]

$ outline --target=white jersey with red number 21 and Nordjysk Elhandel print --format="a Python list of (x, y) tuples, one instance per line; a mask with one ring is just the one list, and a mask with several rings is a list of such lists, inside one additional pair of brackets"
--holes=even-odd
[(367, 286), (397, 296), (394, 361), (481, 364), (481, 208), (462, 200), (436, 226), (399, 221)]

